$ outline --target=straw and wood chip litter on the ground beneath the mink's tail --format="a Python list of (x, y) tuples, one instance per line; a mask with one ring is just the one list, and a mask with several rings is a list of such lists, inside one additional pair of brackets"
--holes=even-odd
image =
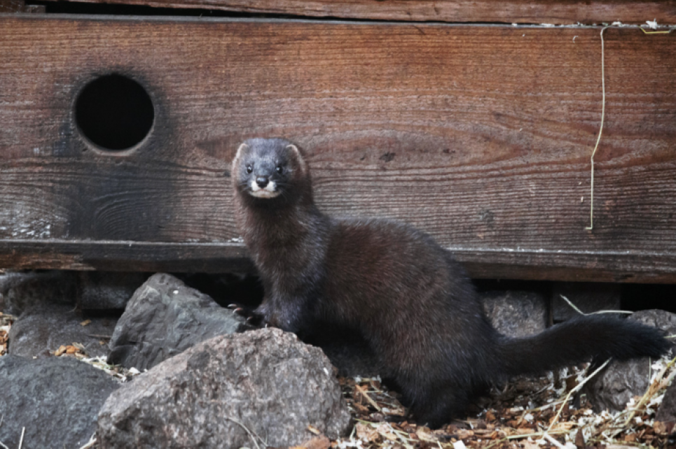
[[(408, 419), (399, 394), (380, 378), (339, 378), (354, 418), (350, 436), (334, 449), (622, 449), (675, 447), (673, 423), (656, 421), (676, 359), (651, 362), (648, 390), (623, 411), (595, 413), (581, 387), (596, 371), (589, 364), (539, 378), (517, 378), (471, 406), (468, 417), (440, 429)], [(602, 368), (602, 367), (601, 367)], [(329, 446), (326, 446), (327, 448)]]

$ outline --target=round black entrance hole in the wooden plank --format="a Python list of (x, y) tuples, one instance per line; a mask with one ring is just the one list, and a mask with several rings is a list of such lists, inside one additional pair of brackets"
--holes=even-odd
[(155, 111), (136, 81), (106, 75), (86, 85), (75, 102), (80, 131), (104, 150), (126, 150), (148, 135)]

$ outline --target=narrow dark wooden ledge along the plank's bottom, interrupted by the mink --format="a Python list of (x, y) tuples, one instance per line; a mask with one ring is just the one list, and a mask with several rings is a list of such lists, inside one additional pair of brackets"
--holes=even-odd
[[(451, 247), (472, 278), (673, 283), (676, 254), (490, 250)], [(0, 241), (0, 266), (14, 269), (252, 273), (242, 243)]]

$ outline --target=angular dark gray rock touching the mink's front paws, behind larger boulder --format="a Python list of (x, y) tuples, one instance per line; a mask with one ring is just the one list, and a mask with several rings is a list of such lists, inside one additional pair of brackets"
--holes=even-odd
[(143, 371), (207, 338), (247, 329), (237, 313), (158, 273), (127, 304), (111, 338), (109, 362)]

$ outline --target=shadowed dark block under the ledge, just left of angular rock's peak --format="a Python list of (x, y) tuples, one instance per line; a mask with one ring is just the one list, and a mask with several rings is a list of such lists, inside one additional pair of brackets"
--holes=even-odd
[(123, 309), (148, 278), (146, 273), (81, 271), (78, 306), (85, 311)]

